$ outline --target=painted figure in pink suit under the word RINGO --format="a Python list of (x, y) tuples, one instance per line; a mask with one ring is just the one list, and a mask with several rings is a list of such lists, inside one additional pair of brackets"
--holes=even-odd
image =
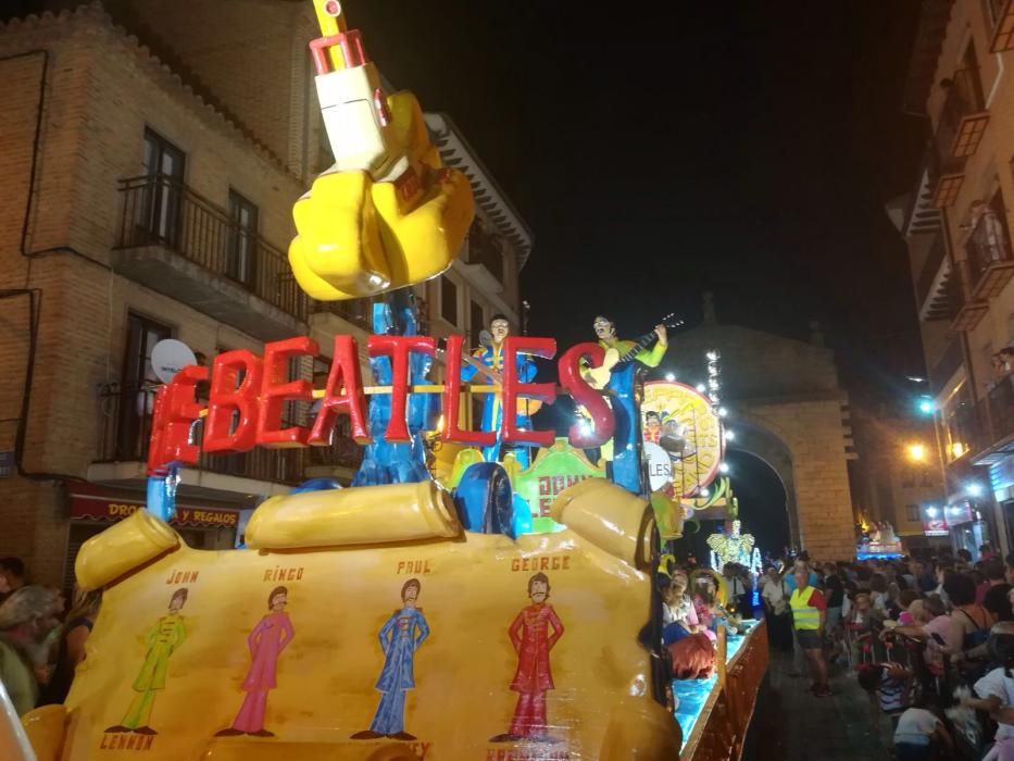
[(267, 691), (278, 685), (278, 657), (296, 636), (289, 614), (285, 612), (288, 595), (289, 590), (286, 587), (275, 587), (267, 596), (267, 615), (261, 619), (247, 637), (251, 660), (250, 671), (243, 679), (247, 697), (231, 726), (215, 733), (215, 737), (242, 734), (254, 737), (275, 736), (275, 733), (264, 728), (264, 711), (267, 709)]

